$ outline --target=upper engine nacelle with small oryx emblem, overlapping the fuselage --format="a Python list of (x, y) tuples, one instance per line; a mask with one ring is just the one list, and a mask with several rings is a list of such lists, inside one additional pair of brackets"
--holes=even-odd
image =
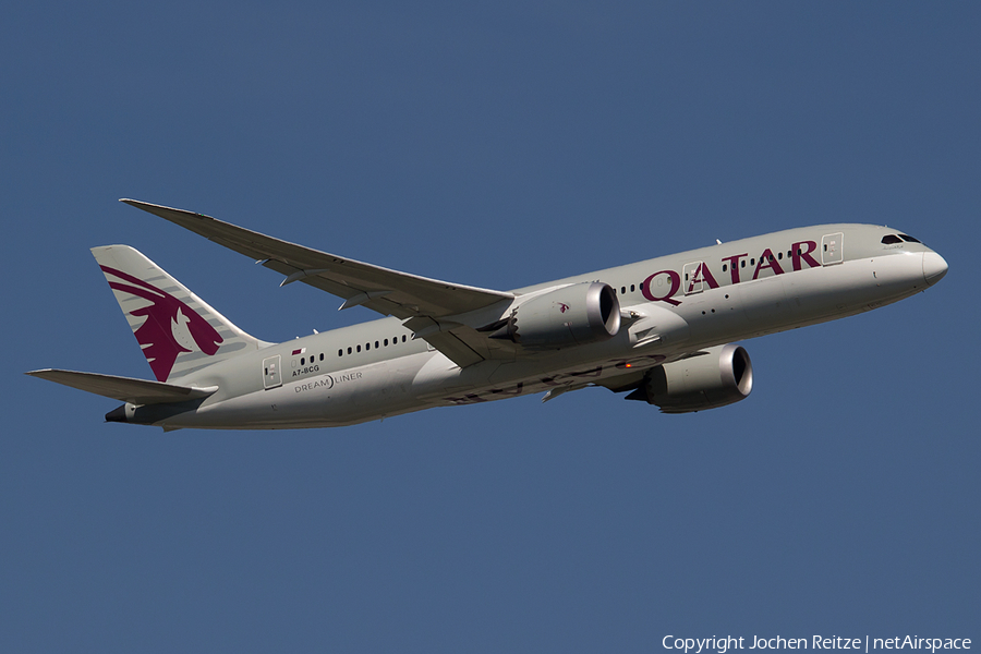
[(608, 284), (572, 284), (532, 298), (511, 312), (492, 338), (505, 338), (529, 348), (581, 346), (617, 335), (620, 302)]

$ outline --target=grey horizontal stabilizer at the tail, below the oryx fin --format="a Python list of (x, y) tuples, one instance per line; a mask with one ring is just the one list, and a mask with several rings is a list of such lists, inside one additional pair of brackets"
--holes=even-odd
[(59, 371), (45, 368), (25, 373), (32, 377), (40, 377), (48, 382), (71, 386), (78, 390), (94, 392), (102, 397), (112, 398), (121, 402), (132, 404), (167, 404), (170, 402), (183, 402), (206, 398), (218, 390), (217, 386), (207, 388), (191, 388), (177, 386), (162, 382), (147, 382), (132, 377), (117, 377), (114, 375), (100, 375), (98, 373), (77, 373), (74, 371)]

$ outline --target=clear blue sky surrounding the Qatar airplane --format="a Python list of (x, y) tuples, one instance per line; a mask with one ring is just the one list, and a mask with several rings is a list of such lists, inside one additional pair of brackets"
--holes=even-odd
[[(0, 649), (978, 639), (979, 29), (967, 2), (7, 8)], [(267, 340), (374, 315), (119, 197), (496, 289), (833, 221), (950, 272), (744, 342), (754, 391), (717, 411), (588, 389), (165, 435), (22, 375), (150, 376), (90, 246)]]

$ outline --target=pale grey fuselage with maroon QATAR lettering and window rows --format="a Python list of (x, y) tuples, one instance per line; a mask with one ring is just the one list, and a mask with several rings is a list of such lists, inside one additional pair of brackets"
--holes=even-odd
[(564, 284), (608, 283), (625, 322), (601, 342), (518, 348), (511, 359), (461, 368), (413, 340), (401, 320), (383, 318), (192, 372), (182, 383), (219, 387), (193, 405), (128, 412), (131, 422), (166, 428), (340, 426), (641, 375), (701, 348), (857, 314), (924, 290), (943, 259), (919, 243), (883, 244), (893, 231), (799, 228), (513, 291), (520, 302)]

